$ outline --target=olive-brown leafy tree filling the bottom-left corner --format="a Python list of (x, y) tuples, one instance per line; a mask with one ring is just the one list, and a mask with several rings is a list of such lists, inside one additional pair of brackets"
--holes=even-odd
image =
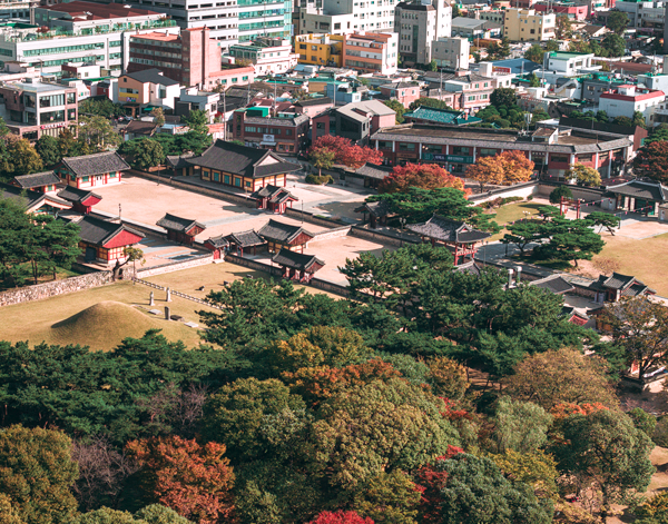
[(19, 425), (0, 429), (0, 493), (11, 497), (26, 524), (67, 523), (77, 501), (71, 441), (51, 429)]

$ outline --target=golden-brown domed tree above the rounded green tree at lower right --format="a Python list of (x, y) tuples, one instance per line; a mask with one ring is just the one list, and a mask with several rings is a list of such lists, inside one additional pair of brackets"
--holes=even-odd
[(606, 377), (606, 362), (568, 347), (527, 356), (504, 378), (512, 398), (532, 402), (547, 411), (559, 404), (619, 404)]

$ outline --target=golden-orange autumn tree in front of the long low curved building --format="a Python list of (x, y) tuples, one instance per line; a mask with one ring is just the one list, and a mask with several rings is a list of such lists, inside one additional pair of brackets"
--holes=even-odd
[(480, 184), (480, 192), (485, 184), (510, 186), (531, 178), (534, 164), (522, 151), (503, 151), (494, 157), (479, 157), (466, 169), (466, 178)]

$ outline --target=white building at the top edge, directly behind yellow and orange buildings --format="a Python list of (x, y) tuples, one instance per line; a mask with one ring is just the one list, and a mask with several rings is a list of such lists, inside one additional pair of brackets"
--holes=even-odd
[(321, 0), (299, 8), (302, 33), (392, 32), (399, 0)]

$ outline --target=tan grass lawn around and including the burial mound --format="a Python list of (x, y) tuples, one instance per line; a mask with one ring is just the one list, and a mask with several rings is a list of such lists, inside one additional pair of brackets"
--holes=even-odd
[[(204, 298), (212, 289), (222, 289), (225, 280), (235, 280), (244, 275), (256, 278), (267, 276), (233, 264), (207, 264), (149, 277), (147, 280)], [(196, 288), (200, 286), (206, 286), (206, 290), (197, 291)], [(306, 289), (310, 293), (324, 293)], [(153, 308), (148, 306), (151, 290), (155, 294)], [(151, 315), (148, 309), (164, 312), (164, 307), (168, 305), (171, 315), (180, 315), (188, 322), (199, 324), (196, 312), (209, 308), (174, 295), (171, 299), (171, 303), (166, 303), (165, 291), (159, 289), (121, 281), (45, 300), (0, 307), (0, 340), (81, 344), (92, 349), (109, 350), (125, 337), (140, 337), (146, 330), (157, 328), (163, 329), (163, 334), (170, 340), (183, 340), (188, 347), (198, 345), (198, 329), (189, 328), (180, 322), (167, 322), (164, 314)]]

